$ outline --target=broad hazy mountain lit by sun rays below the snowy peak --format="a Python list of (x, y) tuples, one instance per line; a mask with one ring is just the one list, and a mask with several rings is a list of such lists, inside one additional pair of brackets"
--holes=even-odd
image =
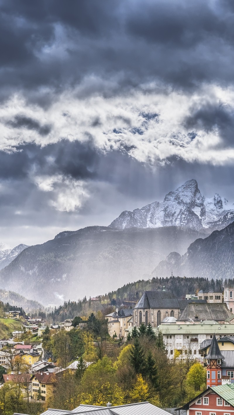
[(203, 231), (177, 227), (61, 232), (51, 241), (24, 249), (0, 271), (0, 286), (45, 305), (63, 298), (77, 300), (136, 281), (171, 251), (183, 253), (205, 236)]

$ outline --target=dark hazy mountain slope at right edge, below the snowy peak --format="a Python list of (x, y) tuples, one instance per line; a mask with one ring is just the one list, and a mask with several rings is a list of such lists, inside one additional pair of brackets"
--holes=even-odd
[(152, 272), (152, 276), (173, 275), (205, 278), (233, 278), (234, 222), (220, 231), (214, 231), (205, 239), (190, 244), (180, 256), (171, 252)]

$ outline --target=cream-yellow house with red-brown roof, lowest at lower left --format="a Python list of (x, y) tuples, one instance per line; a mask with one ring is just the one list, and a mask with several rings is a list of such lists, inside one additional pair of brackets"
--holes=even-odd
[(34, 374), (32, 375), (31, 381), (32, 398), (37, 400), (48, 400), (54, 392), (56, 374), (49, 372)]

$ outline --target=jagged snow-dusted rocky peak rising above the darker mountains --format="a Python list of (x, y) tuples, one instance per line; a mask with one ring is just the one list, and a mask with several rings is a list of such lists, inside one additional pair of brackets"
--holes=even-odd
[(195, 230), (222, 229), (234, 221), (234, 206), (215, 193), (214, 198), (201, 195), (197, 181), (185, 182), (169, 192), (163, 202), (125, 210), (109, 225), (113, 229), (187, 227)]

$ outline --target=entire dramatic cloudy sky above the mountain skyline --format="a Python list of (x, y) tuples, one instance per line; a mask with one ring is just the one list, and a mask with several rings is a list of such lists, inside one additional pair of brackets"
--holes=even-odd
[(233, 0), (0, 0), (0, 241), (234, 194)]

